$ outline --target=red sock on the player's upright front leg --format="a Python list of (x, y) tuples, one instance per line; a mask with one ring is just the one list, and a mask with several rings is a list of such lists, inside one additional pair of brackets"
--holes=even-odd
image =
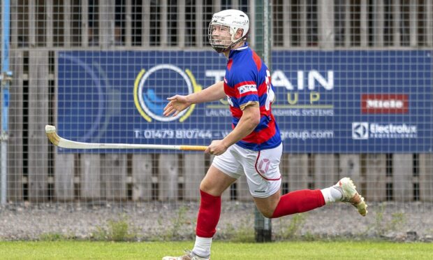
[(196, 235), (201, 238), (212, 238), (217, 232), (217, 224), (221, 214), (221, 196), (212, 196), (201, 189), (200, 196)]

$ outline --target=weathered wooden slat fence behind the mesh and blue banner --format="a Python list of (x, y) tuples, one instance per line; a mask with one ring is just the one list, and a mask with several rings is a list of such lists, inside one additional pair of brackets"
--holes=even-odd
[[(58, 53), (210, 50), (207, 24), (224, 8), (250, 15), (254, 48), (254, 1), (17, 0), (11, 7), (8, 201), (197, 200), (209, 156), (59, 153), (48, 143), (43, 129), (57, 124), (59, 113)], [(432, 1), (274, 0), (271, 7), (272, 50), (431, 50), (433, 45)], [(431, 152), (291, 153), (282, 160), (284, 193), (327, 187), (348, 175), (368, 201), (433, 201)], [(223, 198), (249, 201), (246, 180)]]

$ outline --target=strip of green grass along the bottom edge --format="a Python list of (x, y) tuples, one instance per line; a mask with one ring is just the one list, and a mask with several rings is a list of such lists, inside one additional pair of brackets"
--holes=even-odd
[[(193, 242), (111, 243), (91, 241), (0, 242), (1, 259), (161, 259)], [(218, 259), (432, 259), (432, 243), (278, 242), (212, 245)]]

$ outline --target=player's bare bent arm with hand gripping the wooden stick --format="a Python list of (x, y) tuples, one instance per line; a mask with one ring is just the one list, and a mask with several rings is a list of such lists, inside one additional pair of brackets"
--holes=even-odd
[(237, 143), (254, 131), (259, 122), (260, 108), (258, 105), (246, 106), (235, 129), (223, 138), (223, 140), (213, 140), (205, 152), (215, 155), (223, 154), (230, 145)]

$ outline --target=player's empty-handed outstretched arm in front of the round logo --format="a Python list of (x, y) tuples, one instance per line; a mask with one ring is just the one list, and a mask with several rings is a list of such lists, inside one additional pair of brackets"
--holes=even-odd
[(173, 114), (174, 117), (182, 110), (191, 106), (191, 104), (217, 101), (225, 97), (226, 93), (224, 93), (224, 82), (219, 81), (200, 92), (189, 94), (188, 96), (175, 95), (169, 97), (168, 100), (170, 102), (168, 102), (167, 106), (164, 108), (164, 115), (167, 117)]

